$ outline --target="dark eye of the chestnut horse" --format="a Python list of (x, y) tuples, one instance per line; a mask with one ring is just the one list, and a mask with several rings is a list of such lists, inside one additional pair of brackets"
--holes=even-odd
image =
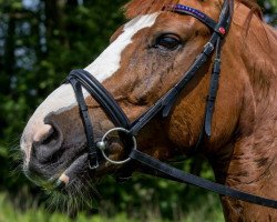
[(162, 50), (175, 50), (181, 44), (181, 40), (178, 37), (174, 34), (165, 34), (160, 37), (156, 40), (155, 48), (162, 49)]

